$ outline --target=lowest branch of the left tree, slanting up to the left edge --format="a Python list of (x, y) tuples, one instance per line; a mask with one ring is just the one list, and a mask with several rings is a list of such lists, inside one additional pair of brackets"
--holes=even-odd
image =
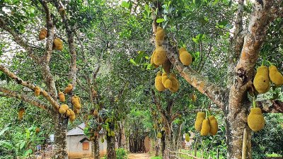
[(45, 105), (45, 103), (42, 103), (40, 100), (37, 100), (35, 98), (29, 97), (28, 95), (23, 95), (21, 93), (18, 93), (13, 90), (8, 90), (3, 87), (0, 87), (0, 92), (3, 93), (0, 94), (0, 96), (8, 98), (18, 98), (19, 100), (23, 100), (25, 102), (30, 103), (31, 105), (35, 105), (36, 107), (41, 108), (42, 110), (47, 110), (47, 112), (50, 112), (50, 107)]

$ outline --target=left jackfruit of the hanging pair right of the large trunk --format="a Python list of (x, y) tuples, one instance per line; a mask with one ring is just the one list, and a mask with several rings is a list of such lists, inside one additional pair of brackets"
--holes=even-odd
[(267, 93), (270, 89), (270, 78), (268, 76), (267, 66), (260, 66), (257, 69), (255, 78), (253, 79), (253, 86), (258, 93)]

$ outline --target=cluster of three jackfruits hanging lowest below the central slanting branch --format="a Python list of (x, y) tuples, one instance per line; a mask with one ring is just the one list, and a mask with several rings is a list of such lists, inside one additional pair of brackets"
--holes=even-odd
[(180, 88), (180, 84), (175, 73), (171, 73), (170, 77), (168, 77), (166, 72), (163, 72), (161, 75), (161, 72), (158, 71), (155, 78), (155, 87), (158, 91), (169, 89), (171, 92), (175, 93)]

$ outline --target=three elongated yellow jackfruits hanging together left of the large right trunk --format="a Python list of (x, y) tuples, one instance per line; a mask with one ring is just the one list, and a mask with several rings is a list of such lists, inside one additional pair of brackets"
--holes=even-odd
[(211, 115), (208, 119), (205, 119), (204, 112), (197, 112), (197, 119), (195, 120), (195, 129), (200, 131), (202, 136), (207, 136), (211, 134), (212, 136), (217, 134), (218, 122), (216, 118)]

